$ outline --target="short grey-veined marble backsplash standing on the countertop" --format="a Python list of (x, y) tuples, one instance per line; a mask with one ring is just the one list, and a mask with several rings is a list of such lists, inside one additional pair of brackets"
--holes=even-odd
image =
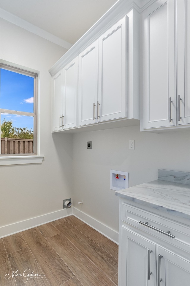
[(190, 185), (190, 173), (159, 169), (158, 180)]

